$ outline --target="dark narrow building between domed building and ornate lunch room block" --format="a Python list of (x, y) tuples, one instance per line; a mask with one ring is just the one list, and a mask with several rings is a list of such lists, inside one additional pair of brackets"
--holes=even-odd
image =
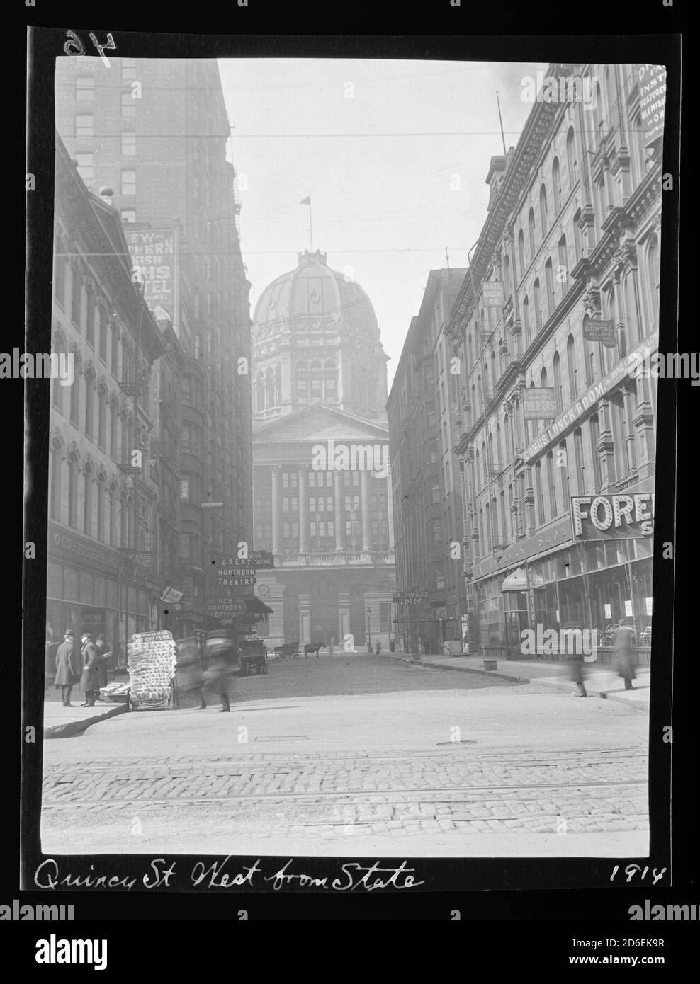
[(461, 415), (459, 366), (443, 333), (465, 270), (431, 270), (412, 319), (387, 410), (398, 591), (397, 642), (406, 651), (462, 651), (466, 615), (461, 475), (453, 454)]

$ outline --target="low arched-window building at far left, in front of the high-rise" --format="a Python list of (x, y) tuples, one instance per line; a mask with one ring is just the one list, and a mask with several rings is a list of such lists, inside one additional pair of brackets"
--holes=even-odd
[(73, 380), (51, 384), (47, 643), (103, 632), (125, 665), (128, 639), (158, 621), (151, 406), (164, 343), (119, 215), (58, 137), (55, 174), (51, 348), (72, 357)]

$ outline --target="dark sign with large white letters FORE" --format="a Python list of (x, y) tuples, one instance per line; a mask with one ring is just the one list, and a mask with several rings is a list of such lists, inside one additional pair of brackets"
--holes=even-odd
[(574, 540), (641, 539), (654, 535), (654, 493), (571, 497)]

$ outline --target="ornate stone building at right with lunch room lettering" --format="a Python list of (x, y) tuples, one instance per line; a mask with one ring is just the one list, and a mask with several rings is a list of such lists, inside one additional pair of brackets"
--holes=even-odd
[(582, 535), (570, 505), (601, 496), (599, 518), (653, 516), (656, 380), (631, 370), (659, 345), (663, 111), (660, 130), (645, 107), (664, 72), (547, 74), (585, 76), (596, 98), (537, 102), (517, 147), (492, 158), (488, 215), (444, 329), (463, 367), (473, 643), (517, 658), (524, 629), (588, 628), (605, 652), (629, 618), (646, 659), (651, 523)]

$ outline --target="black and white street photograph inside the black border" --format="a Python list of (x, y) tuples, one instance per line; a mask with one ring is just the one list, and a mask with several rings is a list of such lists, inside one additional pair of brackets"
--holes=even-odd
[(666, 67), (77, 53), (42, 852), (648, 854)]

